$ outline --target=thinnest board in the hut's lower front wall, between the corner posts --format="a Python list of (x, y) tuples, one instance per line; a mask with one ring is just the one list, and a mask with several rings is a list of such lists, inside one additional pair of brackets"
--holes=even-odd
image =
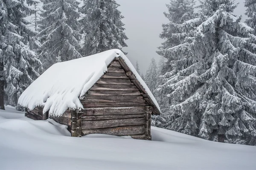
[(100, 115), (100, 116), (82, 116), (82, 121), (92, 120), (107, 120), (107, 119), (119, 119), (119, 118), (144, 118), (145, 114), (135, 115)]

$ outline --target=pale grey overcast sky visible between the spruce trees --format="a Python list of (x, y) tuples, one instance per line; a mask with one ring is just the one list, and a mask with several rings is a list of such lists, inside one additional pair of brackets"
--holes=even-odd
[[(124, 48), (128, 52), (127, 57), (134, 64), (138, 61), (141, 71), (145, 74), (151, 58), (159, 60), (160, 56), (155, 52), (157, 47), (163, 42), (159, 38), (162, 31), (162, 24), (168, 23), (163, 12), (167, 12), (166, 3), (170, 0), (116, 0), (121, 6), (119, 10), (124, 15), (125, 33), (129, 40), (126, 41), (128, 47)], [(244, 0), (236, 0), (239, 6), (235, 10), (236, 15), (243, 15), (244, 20)]]

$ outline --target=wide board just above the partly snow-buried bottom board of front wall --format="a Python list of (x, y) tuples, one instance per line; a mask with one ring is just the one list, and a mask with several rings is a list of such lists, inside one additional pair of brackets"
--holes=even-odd
[(143, 125), (82, 130), (82, 133), (84, 135), (99, 133), (99, 134), (107, 134), (107, 135), (124, 136), (124, 135), (140, 135), (140, 134), (144, 134), (144, 132), (145, 132), (145, 128)]

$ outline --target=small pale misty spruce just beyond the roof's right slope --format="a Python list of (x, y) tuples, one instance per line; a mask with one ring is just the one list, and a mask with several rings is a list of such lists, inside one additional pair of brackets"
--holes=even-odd
[(154, 90), (157, 87), (157, 63), (154, 58), (151, 59), (150, 65), (145, 75), (145, 83), (150, 91), (154, 94)]

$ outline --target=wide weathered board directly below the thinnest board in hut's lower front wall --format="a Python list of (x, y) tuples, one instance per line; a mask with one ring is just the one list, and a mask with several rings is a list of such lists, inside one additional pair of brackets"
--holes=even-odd
[(107, 119), (96, 121), (82, 121), (82, 129), (99, 129), (119, 126), (133, 126), (145, 124), (145, 118), (124, 118), (124, 119)]

